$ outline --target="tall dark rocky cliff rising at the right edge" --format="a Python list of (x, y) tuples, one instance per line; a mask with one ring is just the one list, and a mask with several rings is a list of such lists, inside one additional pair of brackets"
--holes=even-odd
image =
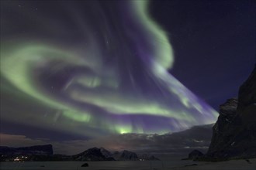
[(220, 105), (208, 158), (256, 158), (256, 65), (237, 99)]

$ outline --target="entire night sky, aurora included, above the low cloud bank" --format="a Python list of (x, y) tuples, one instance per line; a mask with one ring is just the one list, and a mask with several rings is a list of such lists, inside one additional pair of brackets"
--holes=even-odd
[(255, 7), (1, 1), (1, 145), (88, 147), (214, 123), (254, 67)]

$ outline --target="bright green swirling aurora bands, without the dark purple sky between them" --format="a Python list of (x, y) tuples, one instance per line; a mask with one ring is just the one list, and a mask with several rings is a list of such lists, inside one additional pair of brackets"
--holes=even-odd
[[(97, 135), (95, 131), (121, 134), (166, 133), (189, 128), (195, 124), (216, 121), (216, 111), (195, 97), (168, 73), (168, 69), (174, 63), (173, 51), (167, 34), (153, 19), (150, 19), (148, 2), (131, 2), (130, 8), (133, 10), (131, 17), (140, 30), (143, 30), (153, 53), (145, 53), (147, 49), (141, 46), (136, 48), (140, 56), (147, 56), (149, 59), (146, 67), (149, 79), (157, 84), (160, 90), (164, 90), (163, 95), (161, 94), (163, 99), (154, 100), (153, 97), (145, 96), (144, 93), (140, 93), (136, 85), (131, 88), (134, 89), (134, 93), (123, 92), (123, 80), (119, 77), (119, 70), (115, 66), (104, 64), (102, 53), (98, 53), (100, 48), (97, 40), (89, 41), (90, 46), (79, 53), (75, 48), (39, 39), (30, 39), (29, 42), (22, 39), (14, 42), (2, 39), (2, 79), (8, 80), (12, 86), (22, 92), (22, 96), (30, 97), (31, 104), (38, 102), (55, 110), (55, 113), (48, 116), (52, 118), (46, 120), (42, 120), (39, 114), (29, 114), (29, 110), (26, 110), (27, 117), (36, 120), (33, 123), (29, 122), (26, 116), (22, 118), (22, 115), (17, 115), (17, 111), (16, 114), (4, 113), (9, 114), (9, 116), (4, 115), (4, 118), (12, 120), (12, 116), (15, 115), (24, 124), (42, 127), (54, 120), (57, 123), (56, 129), (89, 136)], [(139, 41), (136, 36), (130, 39), (134, 44)], [(62, 100), (56, 93), (53, 92), (53, 95), (47, 90), (37, 78), (40, 74), (38, 70), (51, 66), (53, 62), (57, 63), (50, 68), (53, 73), (59, 73), (67, 67), (89, 68), (93, 73), (77, 74), (69, 78), (64, 86), (58, 89), (58, 92), (63, 94), (61, 97), (67, 97), (67, 100)], [(132, 78), (131, 81), (137, 83)], [(7, 83), (2, 83), (1, 89), (16, 97), (12, 89), (9, 90), (7, 86)], [(162, 102), (166, 96), (167, 99), (175, 98), (175, 102), (179, 104)], [(90, 107), (86, 107), (87, 105)], [(99, 113), (100, 111), (102, 113)], [(59, 119), (60, 117), (64, 118)], [(141, 117), (151, 117), (150, 120), (153, 117), (155, 124), (150, 126), (152, 121)], [(158, 118), (160, 121), (157, 121)], [(161, 120), (165, 120), (164, 124)]]

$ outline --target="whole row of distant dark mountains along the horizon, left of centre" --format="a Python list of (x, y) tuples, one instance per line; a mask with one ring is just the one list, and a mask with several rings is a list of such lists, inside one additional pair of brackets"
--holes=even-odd
[[(26, 148), (0, 147), (0, 162), (7, 161), (36, 161), (36, 162), (64, 162), (64, 161), (139, 161), (137, 154), (132, 151), (115, 151), (111, 153), (105, 148), (89, 148), (78, 155), (52, 155), (51, 145), (33, 146)], [(16, 160), (15, 160), (16, 159)], [(142, 155), (141, 159), (159, 160), (153, 155)]]

